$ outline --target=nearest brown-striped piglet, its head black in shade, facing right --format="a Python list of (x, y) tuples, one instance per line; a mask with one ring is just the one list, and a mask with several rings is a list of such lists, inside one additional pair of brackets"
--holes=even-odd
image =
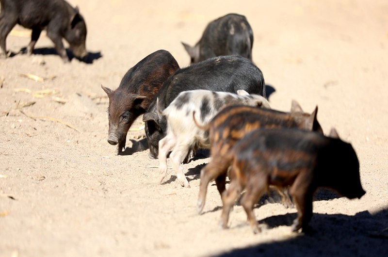
[(222, 196), (221, 225), (227, 227), (229, 212), (245, 190), (241, 205), (253, 232), (260, 228), (253, 206), (269, 185), (290, 186), (297, 209), (291, 229), (309, 231), (314, 192), (321, 187), (349, 198), (361, 198), (359, 162), (353, 146), (338, 138), (295, 128), (255, 129), (224, 156), (223, 168), (231, 166), (232, 177)]

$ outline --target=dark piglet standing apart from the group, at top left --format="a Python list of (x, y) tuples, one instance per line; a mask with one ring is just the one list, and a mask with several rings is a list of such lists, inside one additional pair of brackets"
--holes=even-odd
[(46, 30), (65, 63), (69, 62), (69, 58), (62, 38), (69, 43), (75, 56), (82, 59), (87, 55), (86, 24), (78, 7), (71, 7), (65, 0), (0, 0), (0, 4), (0, 47), (5, 57), (5, 41), (16, 24), (32, 29), (28, 54), (32, 54), (42, 30)]

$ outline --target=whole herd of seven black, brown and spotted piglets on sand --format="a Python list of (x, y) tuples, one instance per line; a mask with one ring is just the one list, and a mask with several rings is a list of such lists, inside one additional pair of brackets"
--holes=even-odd
[[(64, 0), (0, 3), (0, 47), (5, 56), (5, 39), (18, 23), (32, 29), (28, 53), (45, 29), (64, 62), (69, 59), (62, 38), (74, 55), (85, 57), (86, 25), (77, 8)], [(47, 11), (34, 12), (42, 8)], [(183, 164), (196, 150), (210, 149), (210, 162), (200, 173), (199, 213), (208, 185), (215, 180), (223, 203), (222, 227), (227, 227), (230, 210), (242, 194), (241, 205), (258, 233), (253, 207), (272, 186), (285, 206), (297, 209), (292, 231), (307, 232), (317, 188), (331, 188), (350, 199), (365, 194), (359, 162), (352, 145), (334, 128), (323, 135), (318, 107), (306, 113), (292, 101), (290, 112), (271, 109), (263, 74), (252, 62), (252, 45), (246, 18), (228, 14), (210, 22), (194, 47), (183, 43), (190, 66), (180, 68), (166, 50), (146, 56), (129, 69), (116, 90), (102, 86), (109, 97), (108, 142), (118, 145), (120, 153), (129, 128), (143, 115), (149, 157), (159, 159), (159, 182), (167, 175), (169, 157), (179, 183), (190, 187)]]

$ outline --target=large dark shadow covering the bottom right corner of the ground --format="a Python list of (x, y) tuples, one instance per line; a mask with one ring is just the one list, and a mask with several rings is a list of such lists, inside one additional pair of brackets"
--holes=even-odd
[[(308, 234), (293, 233), (283, 240), (259, 243), (233, 249), (212, 257), (234, 256), (388, 256), (388, 209), (371, 214), (361, 211), (356, 215), (314, 213)], [(275, 215), (259, 221), (268, 229), (291, 226), (296, 213)], [(248, 225), (244, 223), (242, 225)], [(240, 226), (242, 226), (240, 225)], [(233, 229), (233, 226), (230, 228)], [(252, 236), (260, 236), (252, 235)]]

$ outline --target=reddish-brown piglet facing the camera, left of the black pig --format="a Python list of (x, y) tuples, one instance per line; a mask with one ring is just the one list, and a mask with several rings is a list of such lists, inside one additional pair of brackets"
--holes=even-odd
[(116, 90), (102, 89), (109, 97), (108, 143), (125, 149), (127, 133), (135, 119), (145, 113), (154, 96), (179, 65), (166, 50), (155, 51), (130, 68)]

